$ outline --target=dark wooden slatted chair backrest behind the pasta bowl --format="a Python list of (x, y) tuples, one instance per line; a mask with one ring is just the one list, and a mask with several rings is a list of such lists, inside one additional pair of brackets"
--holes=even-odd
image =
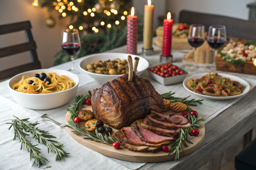
[(31, 58), (31, 63), (0, 71), (0, 80), (6, 79), (8, 77), (12, 77), (16, 74), (19, 74), (25, 71), (41, 68), (41, 64), (37, 58), (36, 42), (33, 39), (31, 30), (30, 30), (31, 28), (32, 27), (31, 27), (30, 21), (0, 25), (0, 35), (24, 30), (25, 37), (26, 37), (26, 43), (0, 48), (0, 58), (10, 56), (13, 54), (22, 53), (25, 51), (30, 51), (30, 58)]

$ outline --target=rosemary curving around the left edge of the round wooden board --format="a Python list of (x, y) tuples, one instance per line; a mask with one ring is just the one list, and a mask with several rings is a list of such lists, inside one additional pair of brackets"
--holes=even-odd
[(71, 132), (73, 132), (76, 135), (86, 136), (84, 139), (90, 139), (90, 140), (93, 140), (93, 141), (96, 141), (96, 142), (106, 143), (106, 144), (109, 144), (109, 145), (113, 144), (111, 141), (119, 142), (117, 138), (115, 138), (115, 137), (112, 138), (110, 134), (109, 134), (109, 139), (111, 141), (108, 139), (108, 136), (106, 134), (103, 137), (103, 135), (101, 133), (99, 133), (97, 129), (95, 130), (95, 135), (94, 135), (93, 133), (81, 128), (78, 123), (74, 122), (74, 118), (77, 117), (77, 111), (81, 108), (81, 106), (84, 104), (84, 102), (87, 99), (91, 98), (91, 95), (92, 94), (89, 91), (89, 95), (87, 95), (87, 96), (83, 97), (83, 95), (81, 95), (81, 96), (76, 96), (75, 97), (75, 103), (72, 104), (72, 105), (69, 105), (69, 108), (67, 109), (67, 111), (69, 111), (69, 113), (71, 114), (70, 119), (68, 120), (69, 124), (65, 125), (64, 127), (68, 127), (70, 129), (73, 129), (73, 131), (71, 131)]

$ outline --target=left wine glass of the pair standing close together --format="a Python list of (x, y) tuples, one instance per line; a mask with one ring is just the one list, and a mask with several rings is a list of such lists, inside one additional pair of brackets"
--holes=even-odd
[(205, 26), (202, 24), (192, 24), (189, 26), (188, 43), (194, 47), (194, 61), (196, 59), (196, 48), (205, 42)]

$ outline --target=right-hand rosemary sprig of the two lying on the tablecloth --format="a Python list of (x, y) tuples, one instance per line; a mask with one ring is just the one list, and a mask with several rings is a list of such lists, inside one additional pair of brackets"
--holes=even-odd
[(54, 141), (54, 140), (49, 140), (47, 138), (56, 138), (55, 136), (49, 135), (48, 131), (45, 130), (40, 130), (38, 128), (35, 128), (36, 125), (39, 123), (34, 122), (34, 123), (27, 123), (23, 120), (18, 119), (17, 117), (13, 116), (17, 122), (23, 127), (25, 132), (30, 132), (33, 138), (38, 139), (38, 143), (44, 144), (48, 148), (48, 153), (49, 150), (51, 152), (54, 152), (57, 154), (55, 161), (61, 161), (63, 159), (63, 156), (68, 156), (69, 153), (65, 152), (60, 146), (63, 144)]

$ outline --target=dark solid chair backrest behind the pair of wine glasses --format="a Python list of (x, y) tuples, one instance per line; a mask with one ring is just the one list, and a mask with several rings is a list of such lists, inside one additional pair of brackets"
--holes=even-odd
[(256, 21), (182, 10), (179, 23), (203, 24), (207, 32), (210, 25), (225, 25), (227, 36), (256, 41)]

